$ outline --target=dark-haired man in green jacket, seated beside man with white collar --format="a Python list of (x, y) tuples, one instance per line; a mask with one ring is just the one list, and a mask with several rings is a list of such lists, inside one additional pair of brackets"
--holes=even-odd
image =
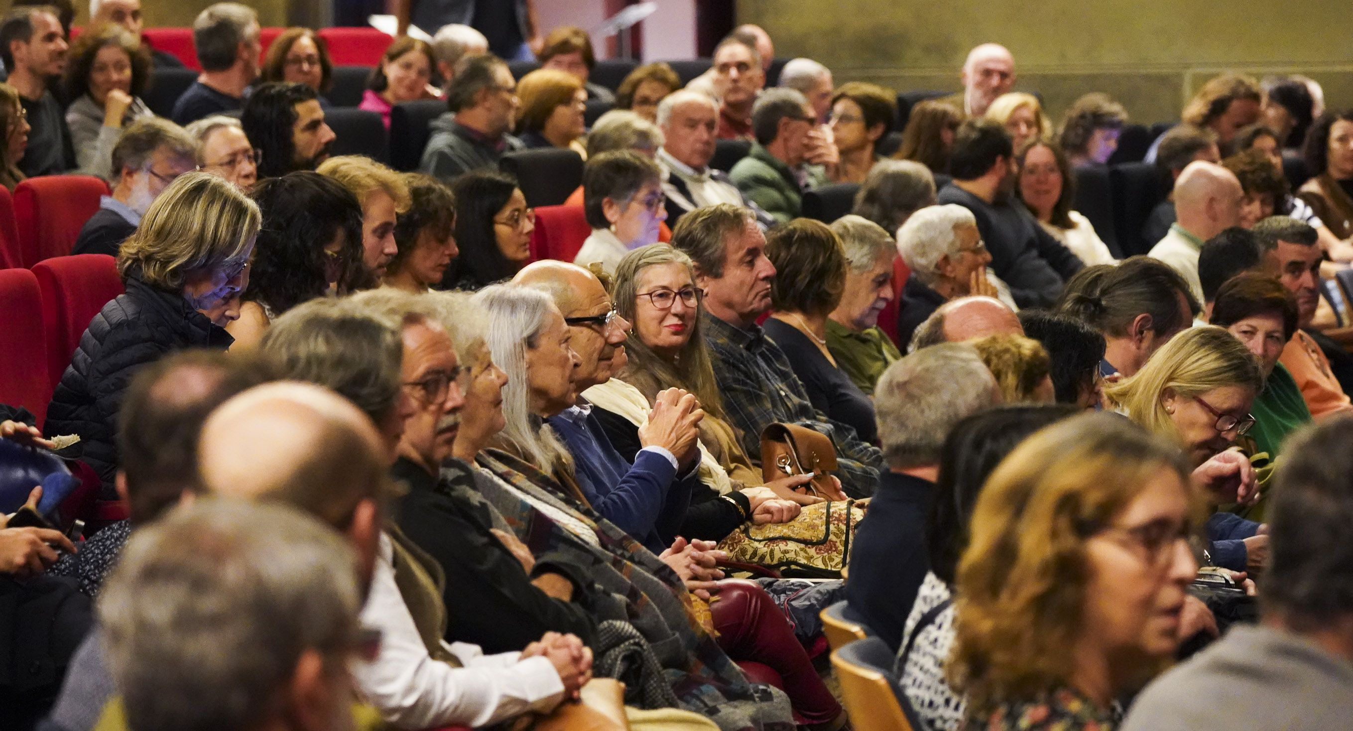
[(748, 200), (779, 223), (798, 218), (805, 190), (827, 183), (824, 171), (808, 162), (812, 110), (793, 89), (769, 89), (752, 110), (756, 141), (728, 177)]

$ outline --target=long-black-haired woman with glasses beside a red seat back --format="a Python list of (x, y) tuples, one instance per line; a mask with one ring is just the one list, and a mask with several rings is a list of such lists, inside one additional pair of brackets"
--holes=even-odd
[(479, 290), (511, 279), (530, 260), (536, 211), (517, 179), (498, 171), (460, 176), (456, 196), (456, 246), (460, 249), (441, 283), (449, 290)]

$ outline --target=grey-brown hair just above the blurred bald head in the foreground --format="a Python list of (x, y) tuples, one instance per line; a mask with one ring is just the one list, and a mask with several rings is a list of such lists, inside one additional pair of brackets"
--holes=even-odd
[(344, 299), (319, 298), (287, 310), (260, 349), (283, 378), (318, 383), (380, 424), (399, 401), (405, 344), (400, 322)]

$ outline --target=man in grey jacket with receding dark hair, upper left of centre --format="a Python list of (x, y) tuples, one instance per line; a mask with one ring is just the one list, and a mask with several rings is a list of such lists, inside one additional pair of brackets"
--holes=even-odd
[(517, 83), (499, 58), (461, 58), (446, 87), (446, 106), (451, 111), (432, 122), (419, 171), (451, 183), (472, 171), (497, 169), (505, 152), (521, 149), (507, 134), (521, 106)]

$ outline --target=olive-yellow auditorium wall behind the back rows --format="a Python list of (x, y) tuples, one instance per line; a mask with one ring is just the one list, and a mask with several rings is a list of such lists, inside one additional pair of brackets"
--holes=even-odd
[(1329, 106), (1353, 104), (1353, 11), (1329, 0), (737, 0), (737, 19), (770, 31), (777, 56), (898, 91), (958, 89), (967, 50), (1000, 42), (1016, 88), (1040, 92), (1054, 119), (1089, 91), (1135, 122), (1177, 119), (1223, 70), (1306, 73)]

